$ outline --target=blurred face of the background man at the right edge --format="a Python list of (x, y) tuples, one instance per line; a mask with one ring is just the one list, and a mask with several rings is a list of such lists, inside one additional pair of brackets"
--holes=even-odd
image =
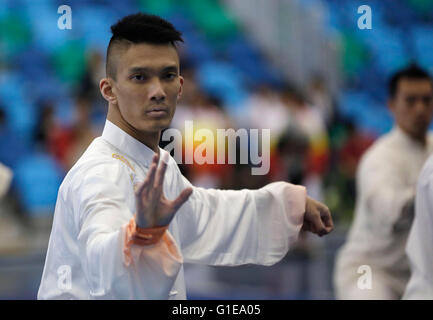
[(433, 115), (432, 84), (428, 79), (400, 79), (389, 106), (402, 130), (414, 139), (423, 139)]

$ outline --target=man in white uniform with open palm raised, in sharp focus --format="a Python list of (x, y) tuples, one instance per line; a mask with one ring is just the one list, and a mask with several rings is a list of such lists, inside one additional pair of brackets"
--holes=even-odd
[(182, 92), (173, 26), (135, 14), (111, 27), (101, 137), (65, 177), (39, 299), (185, 299), (183, 262), (272, 265), (329, 210), (285, 182), (193, 187), (158, 147)]

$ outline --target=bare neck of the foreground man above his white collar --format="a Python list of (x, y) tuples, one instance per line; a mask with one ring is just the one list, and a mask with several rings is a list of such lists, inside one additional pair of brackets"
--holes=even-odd
[(131, 137), (137, 139), (145, 146), (152, 149), (154, 152), (159, 154), (159, 140), (161, 137), (161, 131), (155, 131), (155, 132), (143, 132), (135, 127), (133, 127), (131, 124), (129, 124), (120, 114), (120, 112), (115, 111), (114, 106), (111, 104), (108, 106), (108, 114), (107, 114), (107, 120), (118, 126), (120, 129), (125, 131), (127, 134), (129, 134)]

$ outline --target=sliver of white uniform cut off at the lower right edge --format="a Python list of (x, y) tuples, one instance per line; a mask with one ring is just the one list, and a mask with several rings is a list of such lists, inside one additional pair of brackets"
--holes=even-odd
[(433, 299), (433, 156), (419, 175), (406, 255), (412, 274), (403, 299)]

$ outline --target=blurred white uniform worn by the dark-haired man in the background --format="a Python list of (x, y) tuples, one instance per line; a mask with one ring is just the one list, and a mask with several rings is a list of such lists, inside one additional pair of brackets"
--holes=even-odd
[[(363, 155), (357, 171), (355, 217), (334, 269), (338, 299), (400, 299), (410, 277), (405, 246), (413, 215), (403, 210), (415, 196), (416, 182), (428, 155), (427, 146), (398, 126), (379, 138)], [(358, 287), (358, 268), (371, 269), (372, 287)], [(365, 280), (365, 278), (363, 278)]]

